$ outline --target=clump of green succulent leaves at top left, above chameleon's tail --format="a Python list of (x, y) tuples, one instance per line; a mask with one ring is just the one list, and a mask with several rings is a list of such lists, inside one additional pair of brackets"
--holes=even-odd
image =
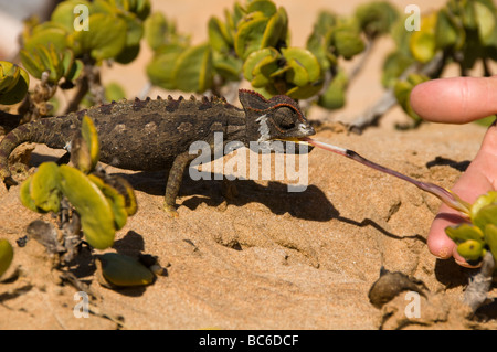
[[(74, 22), (78, 17), (77, 11), (74, 11), (76, 6), (88, 9), (87, 30), (75, 29)], [(129, 63), (138, 55), (144, 35), (142, 22), (149, 12), (148, 0), (63, 1), (52, 12), (50, 21), (24, 31), (24, 61), (28, 62), (34, 50), (40, 51), (40, 46), (47, 49), (49, 44), (52, 44), (56, 53), (70, 50), (75, 58), (87, 54), (97, 63), (107, 58)], [(44, 68), (57, 68), (53, 55), (39, 53), (40, 55)], [(43, 60), (44, 56), (47, 60)], [(36, 71), (33, 72), (33, 76), (39, 75)]]

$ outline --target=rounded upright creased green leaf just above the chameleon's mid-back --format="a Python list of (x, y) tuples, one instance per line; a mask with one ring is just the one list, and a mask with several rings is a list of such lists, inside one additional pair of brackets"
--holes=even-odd
[(202, 93), (212, 85), (212, 51), (209, 44), (189, 47), (178, 57), (172, 77), (183, 92)]

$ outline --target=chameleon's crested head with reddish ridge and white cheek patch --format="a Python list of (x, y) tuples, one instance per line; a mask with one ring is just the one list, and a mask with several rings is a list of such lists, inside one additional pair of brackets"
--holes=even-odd
[(284, 151), (278, 148), (282, 142), (273, 141), (298, 143), (299, 139), (316, 134), (297, 102), (288, 96), (277, 95), (267, 100), (255, 92), (240, 89), (239, 97), (246, 114), (246, 136), (250, 141), (264, 142), (272, 150)]

